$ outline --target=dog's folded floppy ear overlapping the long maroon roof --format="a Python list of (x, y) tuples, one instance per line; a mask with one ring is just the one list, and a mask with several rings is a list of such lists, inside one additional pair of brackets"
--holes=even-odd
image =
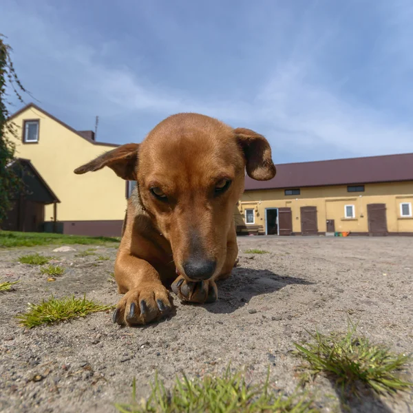
[(238, 144), (246, 159), (246, 173), (255, 180), (269, 180), (275, 176), (271, 147), (264, 136), (250, 129), (234, 129)]

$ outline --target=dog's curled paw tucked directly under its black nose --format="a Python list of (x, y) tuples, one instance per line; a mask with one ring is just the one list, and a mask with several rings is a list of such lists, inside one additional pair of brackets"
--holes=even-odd
[(191, 303), (209, 304), (218, 299), (217, 285), (211, 279), (191, 282), (180, 275), (172, 283), (171, 289), (179, 299)]

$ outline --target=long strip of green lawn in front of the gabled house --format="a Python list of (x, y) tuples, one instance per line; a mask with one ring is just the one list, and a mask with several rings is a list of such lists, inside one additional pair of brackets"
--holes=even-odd
[(120, 242), (120, 237), (81, 237), (78, 235), (52, 233), (23, 233), (14, 231), (0, 231), (0, 248), (63, 244), (104, 245), (114, 242), (118, 244)]

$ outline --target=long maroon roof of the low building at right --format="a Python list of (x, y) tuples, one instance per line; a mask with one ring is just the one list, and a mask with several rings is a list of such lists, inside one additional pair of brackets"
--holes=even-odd
[(268, 181), (245, 178), (245, 190), (322, 187), (413, 180), (413, 153), (276, 165)]

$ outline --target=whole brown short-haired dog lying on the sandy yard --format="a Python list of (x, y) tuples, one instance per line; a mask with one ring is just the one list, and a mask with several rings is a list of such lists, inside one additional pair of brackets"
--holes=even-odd
[(245, 169), (255, 180), (275, 176), (266, 138), (209, 116), (176, 114), (141, 144), (122, 145), (74, 172), (103, 167), (137, 181), (115, 262), (125, 295), (114, 322), (160, 319), (171, 310), (169, 286), (184, 301), (215, 301), (215, 282), (229, 277), (237, 260), (233, 213)]

